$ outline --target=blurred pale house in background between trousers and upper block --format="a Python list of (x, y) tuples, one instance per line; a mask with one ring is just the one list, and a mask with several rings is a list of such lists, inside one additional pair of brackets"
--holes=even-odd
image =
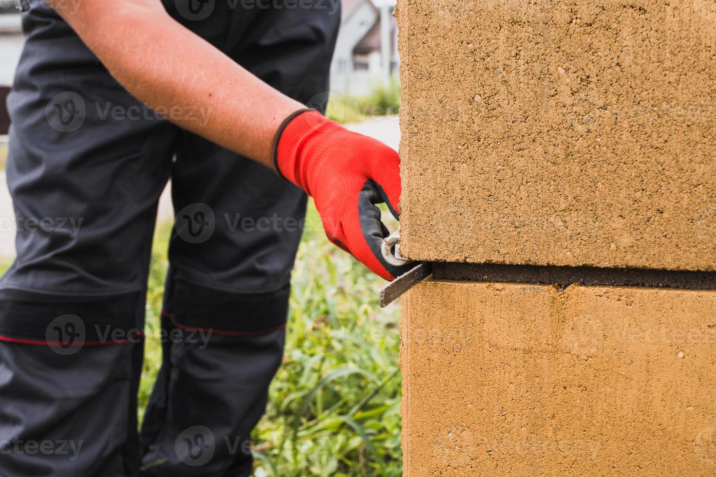
[(390, 82), (400, 64), (394, 9), (395, 0), (343, 0), (332, 92), (364, 96)]

